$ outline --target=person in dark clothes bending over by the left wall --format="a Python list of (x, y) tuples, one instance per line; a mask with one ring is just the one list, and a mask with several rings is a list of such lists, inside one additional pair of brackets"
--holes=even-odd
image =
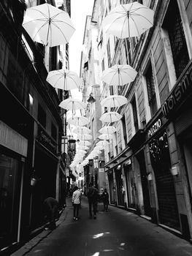
[(58, 219), (58, 200), (53, 197), (47, 197), (44, 201), (45, 217), (47, 217), (48, 224), (45, 229), (54, 230), (56, 227), (55, 220)]

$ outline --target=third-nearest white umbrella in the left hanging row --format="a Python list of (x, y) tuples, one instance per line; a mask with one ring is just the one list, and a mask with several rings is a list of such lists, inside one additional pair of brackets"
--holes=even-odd
[(64, 99), (58, 106), (60, 108), (72, 111), (86, 108), (86, 104), (84, 102), (81, 102), (79, 99), (74, 98)]

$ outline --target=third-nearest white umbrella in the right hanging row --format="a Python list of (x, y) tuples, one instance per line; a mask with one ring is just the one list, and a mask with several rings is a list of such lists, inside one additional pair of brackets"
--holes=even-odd
[(110, 95), (101, 100), (101, 106), (106, 108), (120, 107), (128, 102), (127, 98), (121, 95)]

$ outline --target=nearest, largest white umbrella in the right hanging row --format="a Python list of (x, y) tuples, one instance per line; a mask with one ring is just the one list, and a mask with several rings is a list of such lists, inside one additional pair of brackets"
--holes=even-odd
[(120, 4), (106, 16), (103, 26), (107, 33), (119, 38), (139, 37), (153, 26), (154, 11), (134, 1)]

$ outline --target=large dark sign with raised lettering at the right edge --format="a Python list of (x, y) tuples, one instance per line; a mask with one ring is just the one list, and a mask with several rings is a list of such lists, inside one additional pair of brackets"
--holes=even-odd
[(172, 113), (175, 107), (180, 105), (183, 99), (185, 99), (186, 93), (191, 88), (192, 88), (192, 62), (190, 67), (187, 69), (187, 71), (183, 75), (183, 78), (181, 78), (181, 80), (174, 87), (172, 94), (170, 94), (169, 98), (166, 99), (166, 102), (164, 102), (164, 105), (162, 105), (161, 107), (161, 110), (166, 118), (168, 118), (169, 114)]

